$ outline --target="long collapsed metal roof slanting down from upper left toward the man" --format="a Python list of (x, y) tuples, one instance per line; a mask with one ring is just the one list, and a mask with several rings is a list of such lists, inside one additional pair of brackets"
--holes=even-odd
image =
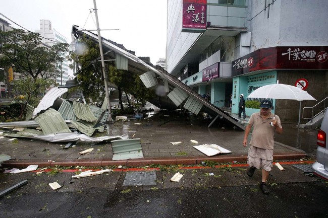
[[(82, 38), (82, 35), (85, 35), (87, 39), (92, 40), (96, 44), (99, 43), (97, 34), (73, 25), (72, 39), (73, 42), (75, 42), (75, 48), (79, 46), (78, 42), (80, 41), (80, 38)], [(176, 109), (184, 103), (183, 107), (196, 115), (199, 111), (202, 111), (214, 116), (215, 118), (209, 126), (217, 118), (225, 118), (229, 122), (245, 130), (245, 126), (242, 125), (240, 121), (206, 101), (197, 92), (182, 83), (176, 77), (170, 75), (160, 66), (154, 67), (145, 63), (140, 58), (130, 53), (131, 51), (129, 52), (122, 46), (122, 48), (120, 48), (110, 40), (102, 38), (101, 44), (104, 51), (104, 57), (106, 59), (115, 59), (117, 68), (138, 74), (147, 88), (158, 88), (159, 86), (164, 87), (165, 94), (160, 96), (160, 102), (158, 98), (150, 100), (150, 103), (155, 106), (160, 107), (161, 109)]]

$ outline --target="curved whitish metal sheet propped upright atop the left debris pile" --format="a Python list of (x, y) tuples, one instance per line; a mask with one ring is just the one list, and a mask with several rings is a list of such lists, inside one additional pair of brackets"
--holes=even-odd
[(67, 88), (54, 87), (50, 89), (44, 97), (41, 99), (38, 106), (33, 111), (33, 117), (35, 117), (41, 110), (48, 109), (53, 105), (54, 100), (56, 100), (59, 96), (63, 95), (67, 92)]

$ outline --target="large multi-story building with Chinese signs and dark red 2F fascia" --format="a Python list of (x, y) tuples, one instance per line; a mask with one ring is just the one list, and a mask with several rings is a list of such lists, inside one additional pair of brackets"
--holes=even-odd
[[(278, 81), (319, 102), (328, 96), (327, 10), (320, 0), (168, 0), (167, 70), (217, 107), (233, 94), (233, 113), (240, 94), (260, 101), (247, 96)], [(298, 118), (299, 102), (272, 102), (282, 119)]]

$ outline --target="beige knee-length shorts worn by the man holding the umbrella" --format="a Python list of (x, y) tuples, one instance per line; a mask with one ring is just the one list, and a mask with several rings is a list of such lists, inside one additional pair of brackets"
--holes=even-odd
[(274, 150), (250, 146), (247, 158), (247, 164), (249, 164), (250, 167), (271, 171), (272, 160), (274, 160)]

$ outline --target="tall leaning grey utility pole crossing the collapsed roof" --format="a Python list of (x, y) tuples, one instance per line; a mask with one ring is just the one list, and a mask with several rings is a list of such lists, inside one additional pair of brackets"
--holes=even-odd
[(96, 25), (97, 25), (97, 32), (98, 32), (98, 41), (99, 41), (103, 81), (105, 83), (105, 93), (106, 93), (107, 106), (108, 106), (107, 122), (111, 122), (111, 121), (113, 121), (113, 119), (112, 119), (112, 111), (111, 111), (111, 103), (110, 103), (110, 94), (108, 92), (107, 76), (106, 76), (106, 72), (105, 72), (105, 61), (103, 60), (102, 43), (101, 43), (100, 28), (99, 28), (99, 22), (98, 22), (98, 13), (97, 13), (96, 0), (93, 0), (93, 5), (94, 5), (94, 14), (95, 14), (95, 17), (96, 17)]

